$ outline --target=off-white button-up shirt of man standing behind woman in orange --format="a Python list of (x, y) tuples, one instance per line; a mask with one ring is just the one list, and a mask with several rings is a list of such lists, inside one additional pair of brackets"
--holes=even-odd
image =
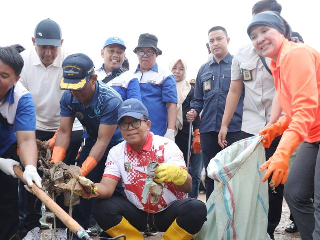
[[(265, 60), (269, 66), (270, 58)], [(247, 77), (250, 80), (244, 80), (243, 69), (250, 71), (250, 77)], [(273, 77), (252, 44), (242, 46), (233, 57), (231, 80), (239, 79), (243, 80), (245, 89), (241, 130), (256, 135), (270, 120), (275, 88)]]

